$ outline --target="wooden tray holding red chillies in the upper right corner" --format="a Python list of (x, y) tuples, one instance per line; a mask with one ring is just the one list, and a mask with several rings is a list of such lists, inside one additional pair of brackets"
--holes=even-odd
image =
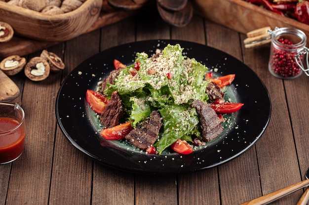
[(309, 25), (280, 16), (245, 0), (193, 0), (196, 14), (241, 33), (270, 26), (296, 28), (305, 32), (309, 42)]

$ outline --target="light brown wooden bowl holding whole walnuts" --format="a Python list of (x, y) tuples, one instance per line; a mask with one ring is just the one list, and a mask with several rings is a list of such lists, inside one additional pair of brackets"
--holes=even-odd
[(48, 15), (0, 1), (0, 21), (18, 35), (41, 41), (65, 41), (77, 37), (97, 20), (102, 0), (86, 0), (74, 11)]

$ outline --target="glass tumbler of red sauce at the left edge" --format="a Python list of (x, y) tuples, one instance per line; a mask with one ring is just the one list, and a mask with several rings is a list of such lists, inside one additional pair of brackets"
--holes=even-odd
[(25, 113), (16, 103), (0, 102), (0, 164), (17, 159), (24, 150)]

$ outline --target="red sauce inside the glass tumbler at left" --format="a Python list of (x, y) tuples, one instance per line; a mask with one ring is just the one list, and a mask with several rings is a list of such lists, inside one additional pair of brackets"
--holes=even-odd
[(18, 127), (10, 134), (3, 134), (12, 130), (19, 123), (7, 117), (0, 117), (0, 163), (16, 159), (24, 150), (25, 129), (24, 125)]

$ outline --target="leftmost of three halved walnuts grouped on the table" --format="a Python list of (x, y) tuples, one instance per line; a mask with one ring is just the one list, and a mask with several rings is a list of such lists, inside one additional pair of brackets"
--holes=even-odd
[(19, 73), (24, 68), (25, 65), (26, 65), (25, 58), (20, 58), (20, 56), (14, 55), (3, 59), (0, 62), (0, 69), (6, 75), (15, 75)]

